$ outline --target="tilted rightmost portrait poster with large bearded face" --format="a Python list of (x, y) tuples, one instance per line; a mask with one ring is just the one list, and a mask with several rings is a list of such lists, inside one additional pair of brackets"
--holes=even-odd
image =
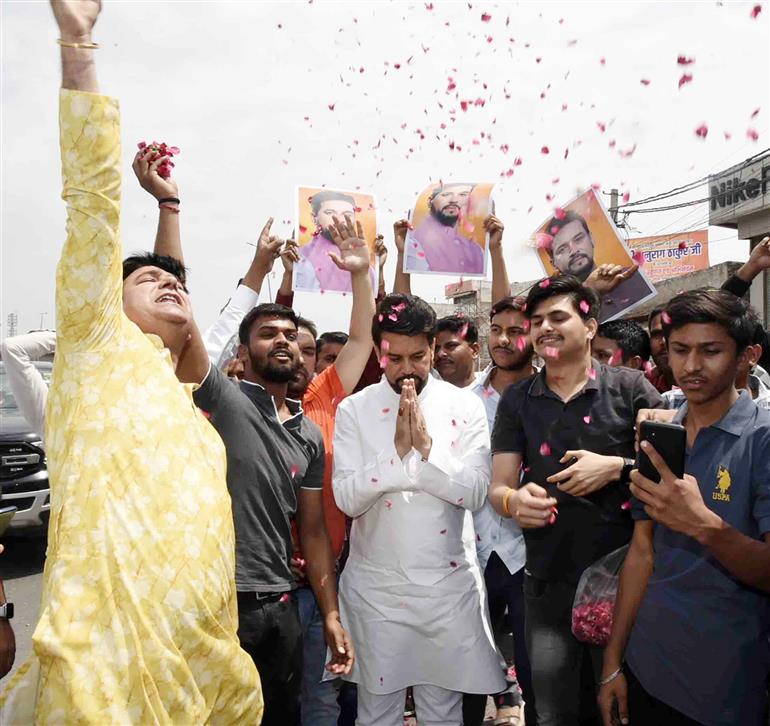
[[(599, 265), (631, 267), (634, 257), (593, 189), (555, 210), (534, 234), (537, 255), (546, 275), (561, 272), (585, 280)], [(598, 291), (599, 322), (620, 317), (655, 297), (643, 267), (613, 290)]]

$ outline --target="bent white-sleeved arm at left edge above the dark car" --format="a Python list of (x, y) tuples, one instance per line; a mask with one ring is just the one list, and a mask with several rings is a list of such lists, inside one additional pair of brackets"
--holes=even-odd
[(8, 376), (8, 385), (16, 398), (19, 411), (35, 433), (43, 434), (48, 386), (34, 362), (56, 350), (56, 333), (40, 330), (27, 335), (6, 338), (0, 344)]

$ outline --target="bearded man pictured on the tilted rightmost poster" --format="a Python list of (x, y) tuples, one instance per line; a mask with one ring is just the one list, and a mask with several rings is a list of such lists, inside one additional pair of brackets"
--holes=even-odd
[(552, 217), (545, 231), (553, 237), (548, 248), (553, 266), (565, 275), (574, 275), (599, 293), (600, 323), (616, 317), (631, 304), (650, 294), (644, 278), (637, 274), (637, 265), (626, 270), (616, 270), (617, 266), (612, 265), (597, 268), (591, 230), (577, 212), (568, 211)]

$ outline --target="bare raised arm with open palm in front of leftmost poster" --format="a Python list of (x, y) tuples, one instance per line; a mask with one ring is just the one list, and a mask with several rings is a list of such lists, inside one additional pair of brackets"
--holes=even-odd
[(350, 272), (353, 291), (353, 308), (350, 312), (350, 331), (334, 365), (340, 383), (348, 395), (353, 393), (361, 374), (364, 372), (369, 354), (372, 352), (372, 318), (374, 317), (374, 294), (369, 280), (369, 247), (363, 238), (360, 222), (335, 217), (332, 229), (339, 255), (332, 261), (341, 270)]

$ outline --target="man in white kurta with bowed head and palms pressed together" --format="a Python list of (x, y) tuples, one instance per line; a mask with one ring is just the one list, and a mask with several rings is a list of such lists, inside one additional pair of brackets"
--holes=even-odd
[[(391, 295), (378, 318), (384, 376), (340, 404), (334, 434), (334, 495), (353, 517), (340, 609), (359, 654), (357, 724), (400, 726), (414, 686), (420, 726), (459, 726), (463, 692), (505, 687), (471, 515), (489, 483), (488, 425), (471, 391), (429, 375), (426, 303)], [(404, 387), (429, 442), (408, 451), (396, 431)]]

